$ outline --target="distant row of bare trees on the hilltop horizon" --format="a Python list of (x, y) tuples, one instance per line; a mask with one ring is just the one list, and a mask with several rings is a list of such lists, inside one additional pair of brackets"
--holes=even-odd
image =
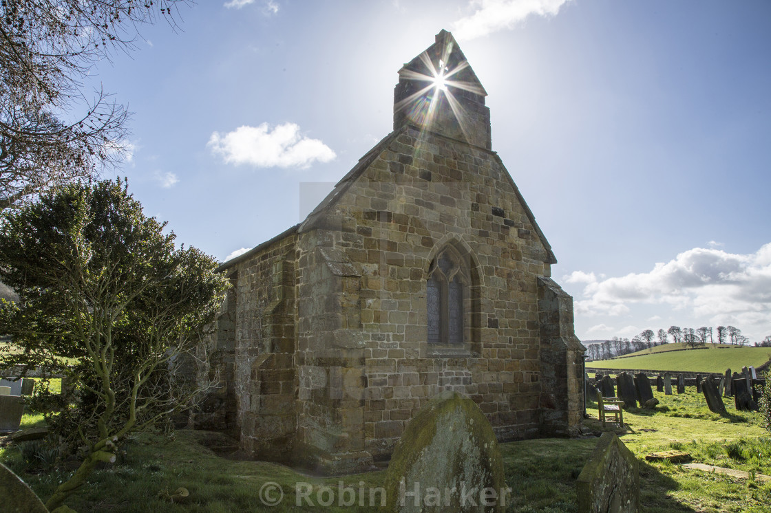
[[(670, 326), (668, 330), (659, 329), (658, 331), (643, 330), (640, 334), (628, 338), (613, 337), (611, 340), (605, 340), (598, 344), (590, 344), (587, 347), (588, 360), (608, 360), (608, 358), (623, 356), (625, 354), (635, 353), (651, 347), (669, 344), (672, 342), (684, 343), (690, 348), (703, 347), (706, 344), (732, 344), (748, 345), (749, 339), (742, 335), (742, 330), (734, 326), (719, 326), (699, 328), (681, 328), (679, 326)], [(771, 335), (763, 339), (763, 342), (756, 342), (756, 347), (771, 347)]]

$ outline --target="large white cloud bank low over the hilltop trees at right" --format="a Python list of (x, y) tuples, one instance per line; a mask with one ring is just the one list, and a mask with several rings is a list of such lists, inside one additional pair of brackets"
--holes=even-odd
[(585, 283), (575, 310), (587, 317), (624, 315), (634, 303), (648, 303), (686, 309), (712, 324), (735, 324), (756, 338), (771, 332), (771, 243), (749, 254), (697, 247), (648, 273), (597, 279), (574, 271), (563, 279)]

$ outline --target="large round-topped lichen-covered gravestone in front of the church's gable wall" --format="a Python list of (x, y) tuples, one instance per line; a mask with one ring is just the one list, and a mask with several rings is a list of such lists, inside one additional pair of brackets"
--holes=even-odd
[(386, 471), (385, 498), (385, 511), (506, 510), (503, 458), (474, 401), (444, 391), (412, 417)]

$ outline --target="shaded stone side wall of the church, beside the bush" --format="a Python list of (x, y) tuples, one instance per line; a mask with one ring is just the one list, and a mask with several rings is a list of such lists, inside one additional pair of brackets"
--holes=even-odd
[(295, 243), (290, 234), (235, 266), (235, 397), (241, 448), (291, 458), (295, 389)]

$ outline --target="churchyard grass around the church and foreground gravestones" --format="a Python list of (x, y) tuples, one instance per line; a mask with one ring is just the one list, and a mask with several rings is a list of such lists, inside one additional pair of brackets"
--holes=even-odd
[[(642, 511), (769, 511), (771, 484), (691, 471), (677, 464), (645, 462), (651, 451), (681, 449), (694, 461), (722, 467), (771, 474), (771, 438), (759, 428), (760, 415), (737, 413), (726, 401), (729, 417), (712, 414), (703, 396), (689, 387), (683, 395), (655, 393), (661, 404), (655, 411), (630, 409), (627, 428), (611, 428), (640, 460)], [(592, 409), (594, 408), (594, 409)], [(585, 425), (601, 431), (596, 405)], [(575, 480), (598, 438), (540, 439), (501, 444), (507, 482), (513, 488), (507, 511), (577, 511)], [(116, 464), (95, 471), (89, 484), (67, 504), (76, 511), (372, 511), (369, 492), (382, 485), (382, 471), (342, 478), (317, 478), (278, 464), (234, 461), (213, 451), (226, 438), (206, 431), (177, 431), (171, 439), (143, 434), (124, 446)], [(0, 450), (3, 461), (47, 498), (69, 474), (56, 468), (52, 455), (39, 444), (27, 442)], [(276, 508), (260, 500), (266, 483), (277, 483), (284, 494)], [(311, 502), (297, 504), (297, 483), (311, 489)], [(172, 502), (178, 487), (190, 496)], [(305, 487), (305, 485), (301, 485)], [(330, 495), (318, 495), (329, 487)], [(350, 507), (338, 508), (345, 492), (355, 491)], [(301, 488), (302, 490), (303, 488)], [(349, 492), (350, 493), (350, 492)], [(375, 498), (378, 498), (375, 492)], [(359, 498), (364, 505), (359, 506)], [(321, 501), (332, 501), (322, 507)], [(377, 504), (378, 501), (375, 501)]]

